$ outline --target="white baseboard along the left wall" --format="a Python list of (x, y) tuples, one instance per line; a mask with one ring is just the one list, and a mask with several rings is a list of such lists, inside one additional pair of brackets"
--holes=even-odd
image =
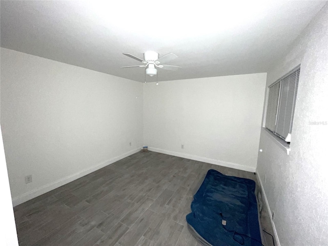
[(78, 179), (80, 177), (83, 177), (83, 176), (85, 176), (85, 175), (87, 175), (89, 173), (92, 173), (94, 171), (97, 171), (100, 168), (104, 168), (104, 167), (106, 167), (106, 166), (114, 163), (115, 161), (118, 161), (120, 159), (123, 159), (125, 157), (128, 157), (129, 155), (132, 155), (134, 153), (137, 153), (137, 152), (140, 151), (140, 149), (141, 149), (141, 147), (140, 148), (137, 148), (137, 149), (134, 149), (132, 151), (126, 152), (126, 153), (124, 153), (124, 154), (122, 154), (120, 156), (116, 156), (116, 157), (114, 157), (112, 159), (109, 159), (109, 160), (105, 160), (103, 162), (100, 162), (97, 165), (95, 165), (93, 167), (90, 167), (88, 169), (82, 170), (82, 171), (80, 171), (78, 173), (75, 173), (75, 174), (72, 174), (70, 176), (67, 176), (67, 177), (61, 178), (59, 180), (56, 180), (54, 182), (48, 183), (45, 186), (42, 186), (40, 188), (37, 188), (37, 189), (34, 189), (32, 191), (26, 192), (23, 195), (16, 196), (16, 197), (12, 198), (13, 207), (17, 206), (20, 203), (23, 203), (25, 201), (28, 201), (30, 199), (33, 199), (33, 198), (35, 198), (35, 197), (37, 197), (39, 195), (45, 194), (45, 193), (47, 193), (47, 192), (49, 192), (51, 190), (54, 190), (54, 189), (56, 189), (56, 188), (58, 188), (60, 186), (64, 186), (67, 183), (72, 182), (75, 179)]

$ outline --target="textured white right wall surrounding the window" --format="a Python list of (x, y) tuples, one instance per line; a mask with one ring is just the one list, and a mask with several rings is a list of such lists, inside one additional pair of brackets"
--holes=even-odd
[[(291, 153), (261, 132), (257, 172), (281, 245), (328, 244), (328, 6), (268, 72), (267, 86), (301, 64)], [(264, 175), (267, 181), (264, 183)]]

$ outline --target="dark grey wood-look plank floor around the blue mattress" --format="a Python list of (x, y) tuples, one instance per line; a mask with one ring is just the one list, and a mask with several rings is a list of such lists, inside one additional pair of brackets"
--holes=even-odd
[[(19, 245), (199, 246), (185, 217), (209, 169), (256, 180), (250, 172), (136, 153), (16, 206)], [(268, 221), (261, 218), (272, 233)]]

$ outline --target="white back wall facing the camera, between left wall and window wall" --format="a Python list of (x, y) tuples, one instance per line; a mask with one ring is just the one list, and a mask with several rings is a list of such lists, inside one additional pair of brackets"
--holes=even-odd
[(266, 76), (145, 84), (144, 144), (153, 151), (255, 172)]

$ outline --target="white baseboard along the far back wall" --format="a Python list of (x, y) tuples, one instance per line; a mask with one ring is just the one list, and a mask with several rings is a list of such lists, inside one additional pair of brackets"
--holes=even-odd
[(207, 158), (207, 157), (201, 157), (201, 156), (197, 156), (197, 155), (179, 153), (179, 152), (174, 152), (174, 151), (169, 151), (169, 150), (162, 150), (162, 149), (157, 149), (157, 148), (152, 148), (152, 147), (148, 147), (148, 150), (158, 152), (158, 153), (162, 153), (162, 154), (174, 155), (174, 156), (178, 156), (178, 157), (182, 157), (182, 158), (187, 158), (187, 159), (191, 159), (191, 160), (207, 162), (207, 163), (211, 163), (211, 164), (218, 165), (218, 166), (223, 166), (223, 167), (227, 167), (227, 168), (234, 168), (234, 169), (247, 171), (247, 172), (252, 172), (252, 173), (255, 173), (255, 170), (256, 170), (256, 168), (245, 167), (245, 166), (242, 166), (240, 164), (237, 164), (237, 163), (234, 163), (234, 162), (229, 162), (229, 161), (224, 161), (224, 160), (216, 160), (216, 159), (211, 159), (211, 158)]

